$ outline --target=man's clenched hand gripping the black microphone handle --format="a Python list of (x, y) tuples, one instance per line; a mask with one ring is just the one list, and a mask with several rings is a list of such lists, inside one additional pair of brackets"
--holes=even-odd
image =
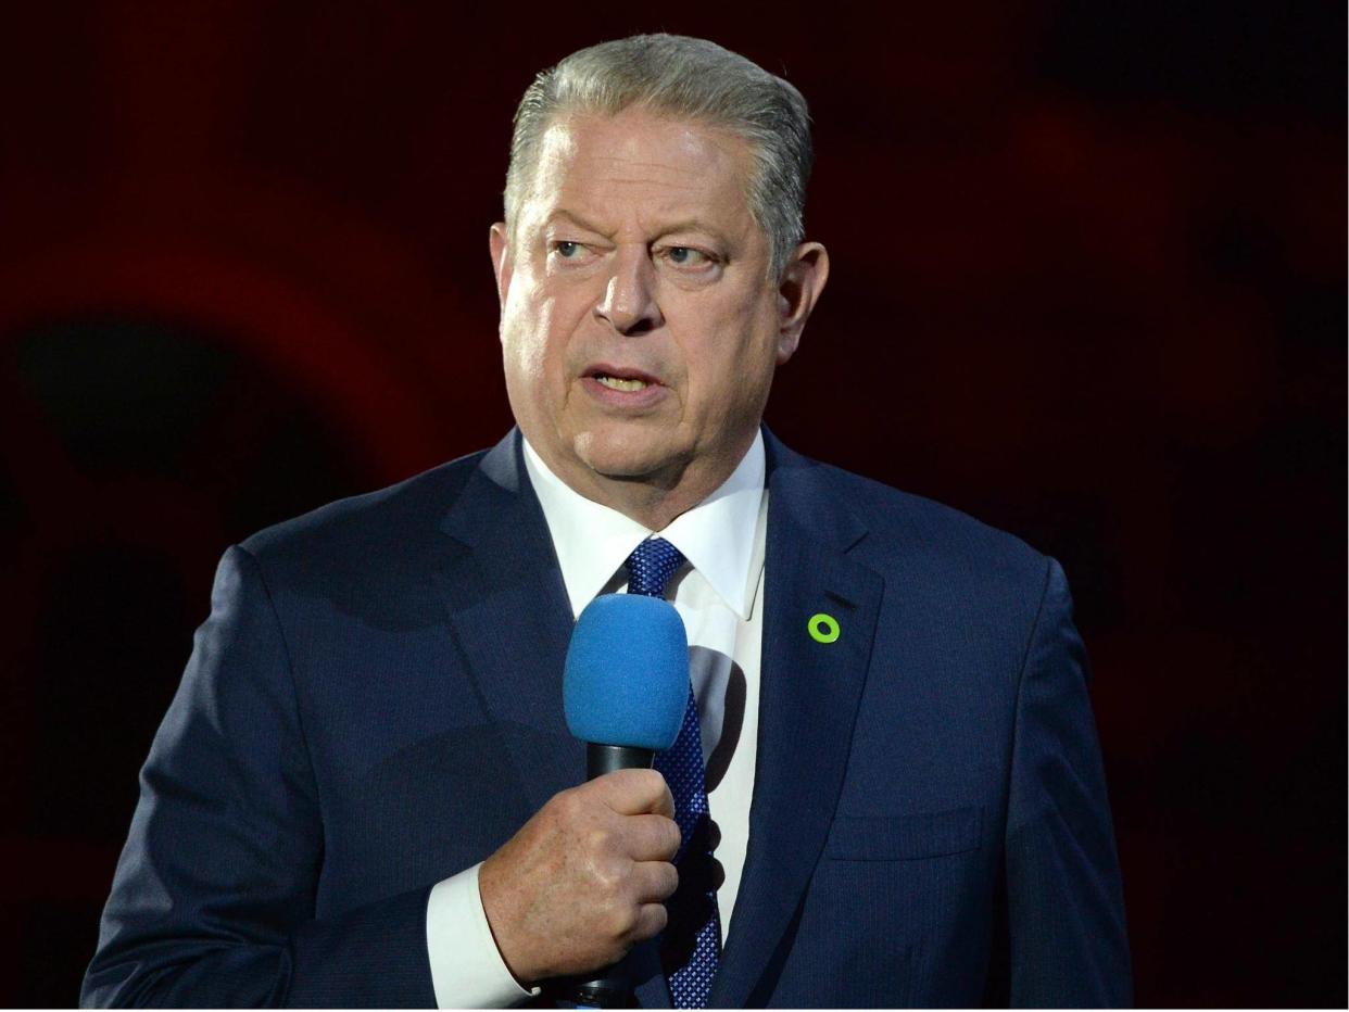
[(554, 795), (483, 862), (478, 887), (515, 978), (618, 962), (665, 927), (679, 885), (674, 799), (653, 769), (621, 769)]

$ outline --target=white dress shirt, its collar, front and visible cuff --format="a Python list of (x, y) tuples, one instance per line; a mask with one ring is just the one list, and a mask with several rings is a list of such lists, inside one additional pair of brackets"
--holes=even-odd
[[(745, 868), (754, 792), (768, 524), (764, 436), (754, 437), (715, 493), (661, 532), (573, 491), (527, 441), (525, 468), (548, 522), (573, 618), (596, 595), (627, 588), (623, 563), (652, 534), (658, 533), (688, 560), (665, 595), (688, 633), (707, 803), (720, 831), (714, 855), (726, 874), (716, 893), (724, 939)], [(500, 1008), (538, 993), (519, 986), (496, 949), (478, 889), (480, 866), (437, 884), (426, 905), (426, 945), (440, 1008)]]

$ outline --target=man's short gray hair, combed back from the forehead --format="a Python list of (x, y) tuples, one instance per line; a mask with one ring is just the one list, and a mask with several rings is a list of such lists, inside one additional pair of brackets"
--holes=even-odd
[(780, 277), (805, 235), (801, 213), (811, 178), (805, 99), (781, 77), (707, 39), (633, 35), (577, 50), (542, 72), (521, 99), (506, 173), (506, 227), (529, 196), (544, 131), (557, 116), (614, 116), (642, 107), (723, 128), (750, 144), (749, 209), (768, 236)]

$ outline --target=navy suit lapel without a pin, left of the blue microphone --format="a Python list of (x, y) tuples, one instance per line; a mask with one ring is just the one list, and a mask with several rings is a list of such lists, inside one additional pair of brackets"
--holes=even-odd
[(452, 545), (436, 582), (455, 640), (502, 730), (529, 811), (538, 811), (585, 779), (585, 746), (563, 715), (572, 614), (518, 432), (483, 457), (441, 532)]

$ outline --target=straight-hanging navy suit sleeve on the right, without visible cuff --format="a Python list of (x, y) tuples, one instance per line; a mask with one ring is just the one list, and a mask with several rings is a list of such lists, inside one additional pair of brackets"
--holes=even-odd
[(1005, 854), (1010, 1004), (1129, 1005), (1124, 895), (1086, 653), (1054, 560), (1017, 692)]

